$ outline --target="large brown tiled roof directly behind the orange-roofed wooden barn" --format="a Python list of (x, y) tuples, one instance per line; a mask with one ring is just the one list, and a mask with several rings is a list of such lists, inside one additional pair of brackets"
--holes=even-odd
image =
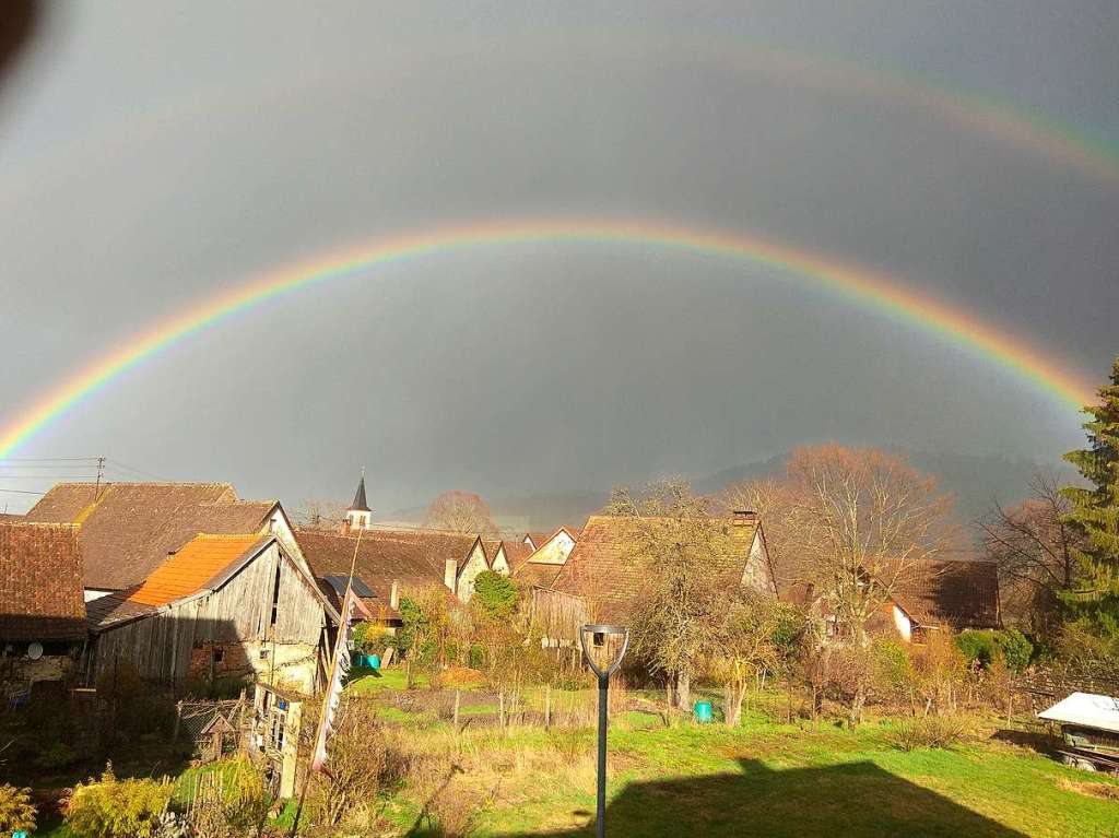
[(199, 533), (265, 526), (274, 501), (242, 501), (228, 483), (58, 483), (28, 520), (81, 524), (85, 586), (123, 590)]

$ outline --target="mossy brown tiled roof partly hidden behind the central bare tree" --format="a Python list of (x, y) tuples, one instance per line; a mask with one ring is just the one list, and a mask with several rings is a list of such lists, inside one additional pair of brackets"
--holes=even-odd
[[(648, 526), (669, 531), (679, 525), (673, 518), (592, 516), (551, 587), (582, 596), (594, 620), (624, 618), (645, 582), (641, 544), (646, 536), (640, 528)], [(741, 583), (756, 530), (756, 521), (718, 522), (712, 539), (713, 569), (727, 585)]]

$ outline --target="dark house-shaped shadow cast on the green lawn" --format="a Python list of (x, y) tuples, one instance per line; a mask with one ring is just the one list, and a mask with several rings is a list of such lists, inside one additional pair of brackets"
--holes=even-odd
[[(741, 773), (631, 783), (606, 810), (606, 834), (612, 838), (1022, 836), (871, 762), (774, 771), (743, 760), (741, 766)], [(590, 820), (582, 829), (505, 838), (591, 836), (593, 817)]]

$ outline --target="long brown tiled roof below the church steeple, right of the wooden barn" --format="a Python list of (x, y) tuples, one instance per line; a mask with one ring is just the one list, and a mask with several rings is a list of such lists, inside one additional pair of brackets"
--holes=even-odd
[(361, 533), (358, 545), (357, 533), (302, 529), (295, 533), (299, 548), (318, 578), (328, 574), (348, 575), (354, 548), (358, 546), (355, 573), (386, 603), (394, 581), (401, 583), (402, 594), (427, 585), (443, 585), (446, 559), (454, 559), (459, 566), (476, 539), (452, 533), (373, 529)]

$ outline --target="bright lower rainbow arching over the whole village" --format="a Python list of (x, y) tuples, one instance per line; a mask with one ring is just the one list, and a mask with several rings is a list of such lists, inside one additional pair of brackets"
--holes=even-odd
[(833, 292), (854, 304), (965, 347), (1032, 383), (1059, 403), (1079, 408), (1092, 388), (1046, 354), (963, 309), (905, 288), (897, 279), (743, 233), (690, 229), (650, 220), (525, 220), (436, 228), (385, 238), (246, 282), (178, 313), (107, 352), (45, 394), (6, 426), (0, 458), (144, 360), (261, 303), (330, 282), (436, 253), (529, 243), (624, 244), (697, 253), (774, 267), (790, 280)]

